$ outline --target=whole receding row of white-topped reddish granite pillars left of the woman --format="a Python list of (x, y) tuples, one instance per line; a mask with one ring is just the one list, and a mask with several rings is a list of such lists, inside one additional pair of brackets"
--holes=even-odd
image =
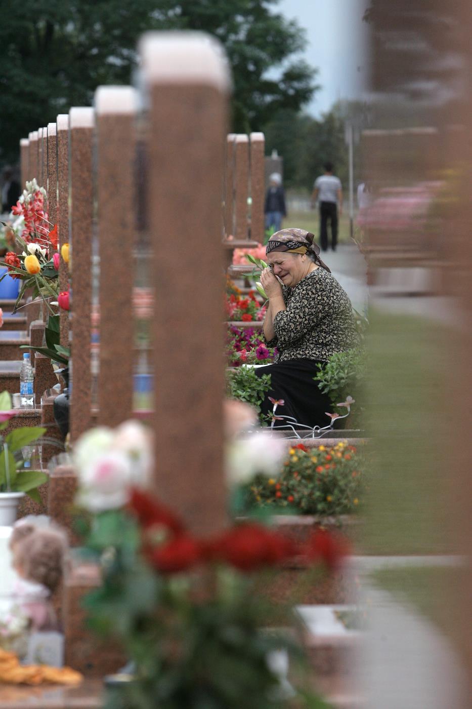
[[(64, 325), (62, 337), (72, 342), (72, 440), (96, 423), (116, 426), (133, 415), (135, 202), (144, 209), (154, 289), (153, 486), (190, 527), (208, 533), (225, 519), (218, 293), (224, 287), (220, 195), (230, 82), (220, 49), (208, 38), (145, 35), (140, 60), (139, 89), (99, 86), (93, 108), (71, 108), (21, 141), (22, 179), (36, 177), (46, 187), (60, 245), (71, 245), (70, 272), (62, 274), (62, 287), (67, 279), (71, 284), (70, 333)], [(264, 142), (259, 136), (252, 145), (261, 157), (263, 189)], [(138, 152), (144, 155), (139, 162)], [(144, 194), (137, 194), (137, 184)], [(95, 244), (100, 347), (98, 411), (92, 412)]]

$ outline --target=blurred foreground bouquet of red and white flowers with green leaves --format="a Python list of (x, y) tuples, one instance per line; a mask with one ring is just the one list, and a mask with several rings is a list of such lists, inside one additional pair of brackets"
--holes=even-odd
[[(287, 637), (264, 631), (271, 604), (254, 593), (260, 574), (300, 554), (313, 564), (339, 563), (342, 547), (327, 532), (300, 547), (250, 521), (211, 538), (194, 535), (172, 509), (146, 491), (150, 440), (137, 422), (99, 428), (77, 442), (74, 459), (86, 547), (103, 583), (86, 598), (89, 623), (122, 644), (130, 681), (111, 709), (286, 705), (286, 687), (271, 653)], [(234, 462), (233, 462), (234, 465)], [(328, 535), (329, 536), (329, 535)], [(308, 692), (301, 706), (322, 707)]]

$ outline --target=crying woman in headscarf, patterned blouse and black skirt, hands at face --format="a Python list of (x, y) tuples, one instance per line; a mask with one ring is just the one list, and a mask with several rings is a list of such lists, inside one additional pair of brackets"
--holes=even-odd
[(276, 232), (267, 242), (269, 267), (261, 277), (269, 298), (264, 340), (277, 347), (279, 354), (274, 364), (255, 371), (257, 376), (271, 375), (263, 413), (272, 411), (271, 396), (284, 401), (277, 408), (278, 415), (322, 427), (330, 423), (326, 412), (332, 405), (313, 380), (318, 364), (335, 352), (359, 345), (359, 334), (351, 301), (320, 259), (320, 247), (313, 238), (310, 232), (291, 228)]

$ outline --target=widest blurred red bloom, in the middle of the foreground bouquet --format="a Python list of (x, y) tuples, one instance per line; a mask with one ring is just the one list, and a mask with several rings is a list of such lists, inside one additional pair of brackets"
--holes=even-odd
[(210, 557), (241, 571), (253, 571), (277, 564), (296, 554), (296, 545), (279, 532), (246, 523), (225, 532), (208, 548)]

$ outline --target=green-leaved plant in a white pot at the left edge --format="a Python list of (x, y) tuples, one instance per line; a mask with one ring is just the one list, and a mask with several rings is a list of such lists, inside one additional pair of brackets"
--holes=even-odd
[(37, 441), (46, 429), (38, 426), (22, 426), (8, 435), (1, 434), (18, 411), (11, 410), (8, 391), (0, 394), (0, 526), (12, 525), (16, 520), (18, 503), (25, 494), (40, 501), (38, 487), (47, 481), (40, 470), (22, 470), (21, 449)]

